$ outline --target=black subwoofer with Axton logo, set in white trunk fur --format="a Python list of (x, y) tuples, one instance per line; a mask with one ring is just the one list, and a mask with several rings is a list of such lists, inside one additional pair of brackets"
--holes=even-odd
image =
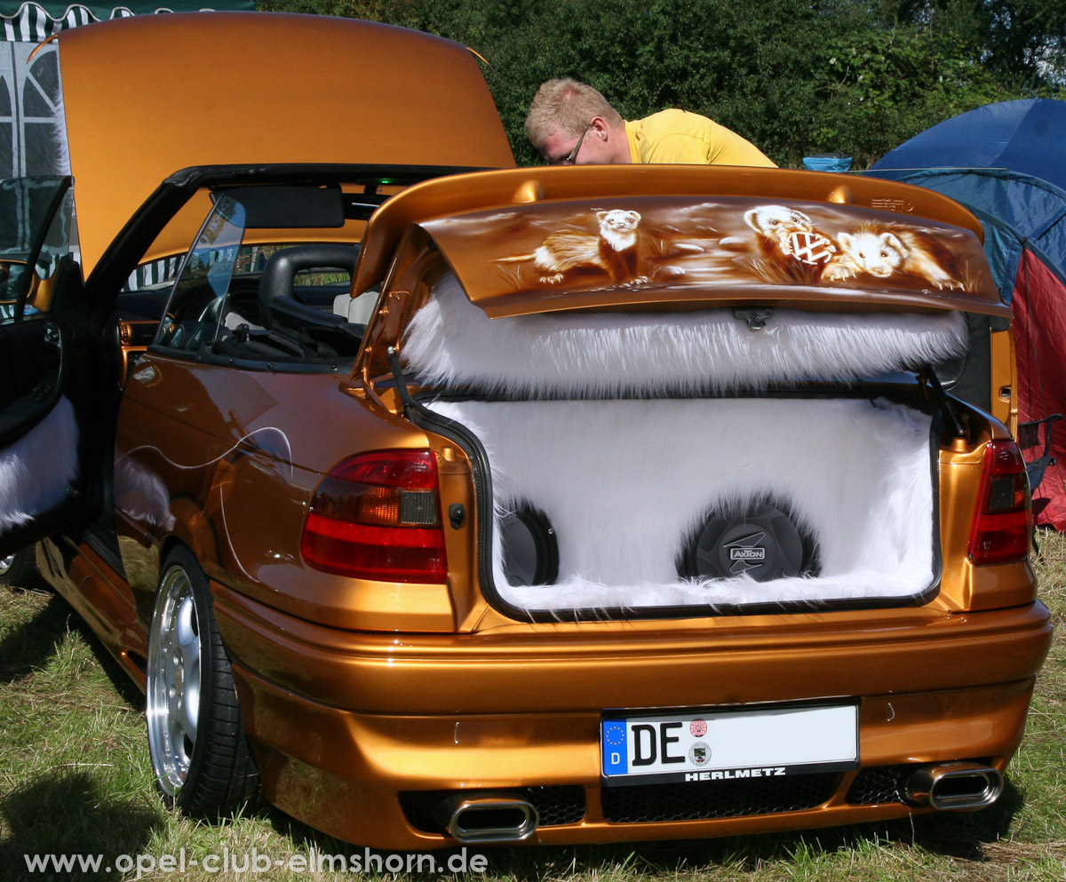
[(724, 506), (708, 516), (685, 544), (678, 572), (685, 578), (756, 582), (818, 575), (818, 543), (788, 507), (770, 500)]

